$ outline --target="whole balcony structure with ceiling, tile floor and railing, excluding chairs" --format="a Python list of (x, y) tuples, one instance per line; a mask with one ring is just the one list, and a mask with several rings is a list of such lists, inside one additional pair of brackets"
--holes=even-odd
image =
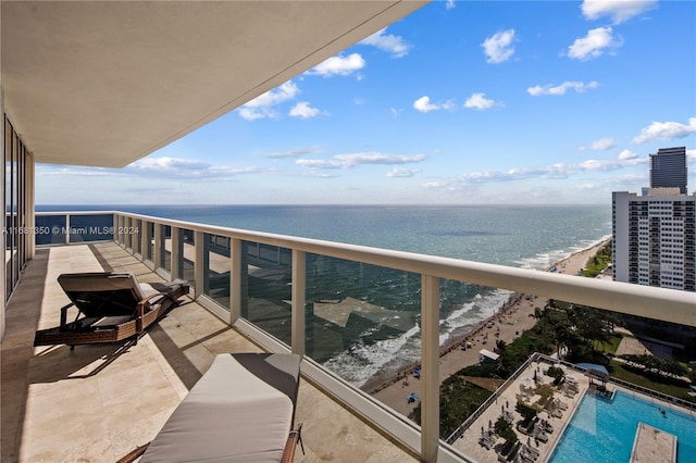
[[(444, 280), (696, 324), (693, 295), (667, 289), (114, 211), (54, 214), (60, 225), (35, 212), (36, 164), (129, 165), (425, 3), (0, 3), (2, 463), (113, 461), (158, 434), (215, 354), (243, 351), (302, 355), (296, 421), (304, 453), (295, 461), (472, 460), (471, 447), (440, 436)], [(105, 222), (96, 225), (95, 215)], [(76, 243), (80, 222), (111, 232)], [(355, 273), (386, 268), (418, 295), (420, 424), (323, 365), (308, 331), (327, 325), (335, 331), (322, 340), (343, 342), (346, 313), (306, 300), (310, 255), (348, 262)], [(260, 265), (269, 262), (282, 270)], [(55, 326), (67, 303), (58, 276), (98, 271), (184, 278), (192, 289), (137, 343), (35, 347), (35, 333)], [(275, 289), (273, 298), (250, 301), (250, 277)], [(231, 433), (239, 426), (231, 423)]]

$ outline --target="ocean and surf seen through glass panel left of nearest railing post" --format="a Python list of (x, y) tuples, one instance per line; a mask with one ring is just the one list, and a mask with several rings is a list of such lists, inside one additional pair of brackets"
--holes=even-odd
[(306, 353), (365, 390), (421, 356), (421, 276), (307, 254)]

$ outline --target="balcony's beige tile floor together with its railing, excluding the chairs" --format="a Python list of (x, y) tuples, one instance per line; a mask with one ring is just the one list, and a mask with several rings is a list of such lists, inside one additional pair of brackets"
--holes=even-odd
[[(98, 224), (94, 228), (89, 217)], [(296, 461), (468, 461), (465, 452), (438, 437), (440, 279), (689, 326), (696, 322), (693, 295), (682, 291), (112, 211), (37, 214), (37, 226), (41, 221), (54, 221), (48, 228), (58, 233), (47, 239), (51, 246), (37, 251), (7, 311), (2, 462), (113, 461), (157, 434), (214, 354), (249, 350), (304, 354), (297, 421), (304, 424), (307, 454), (298, 451)], [(85, 229), (95, 236), (86, 237)], [(104, 236), (98, 232), (105, 232), (107, 240), (99, 240)], [(65, 246), (75, 241), (79, 245)], [(318, 329), (318, 318), (308, 314), (306, 301), (314, 300), (321, 280), (307, 263), (320, 260), (333, 266), (355, 263), (361, 272), (380, 266), (417, 281), (421, 426), (316, 361), (321, 337), (308, 331)], [(66, 301), (58, 275), (102, 270), (134, 272), (144, 281), (186, 277), (194, 287), (191, 301), (135, 346), (35, 349), (35, 330), (55, 326)], [(268, 284), (259, 288), (250, 276)], [(264, 300), (254, 291), (275, 292)]]

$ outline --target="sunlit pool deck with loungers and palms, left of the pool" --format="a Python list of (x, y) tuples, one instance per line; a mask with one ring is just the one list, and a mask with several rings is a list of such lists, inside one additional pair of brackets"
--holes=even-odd
[[(497, 451), (502, 448), (504, 439), (494, 438), (496, 440), (494, 440), (489, 449), (480, 443), (480, 439), (484, 433), (487, 433), (489, 427), (495, 426), (496, 421), (504, 412), (509, 412), (512, 417), (512, 427), (520, 442), (532, 448), (533, 452), (538, 452), (538, 456), (535, 459), (536, 462), (547, 461), (570, 423), (575, 408), (589, 389), (589, 378), (574, 371), (566, 372), (567, 380), (561, 385), (561, 389), (568, 387), (569, 384), (574, 384), (574, 386), (570, 387), (576, 392), (567, 395), (563, 390), (557, 389), (552, 386), (554, 378), (544, 374), (549, 366), (552, 366), (552, 364), (544, 360), (530, 362), (526, 370), (517, 379), (510, 383), (505, 390), (499, 391), (500, 396), (495, 404), (488, 406), (452, 446), (480, 463), (497, 463)], [(536, 381), (534, 381), (535, 373)], [(546, 404), (543, 403), (542, 396), (534, 392), (539, 385), (554, 387), (552, 400), (549, 400)], [(523, 420), (522, 415), (514, 410), (518, 401), (543, 409), (537, 416), (546, 420), (554, 428), (552, 433), (546, 433), (548, 437), (546, 442), (535, 439), (533, 435), (525, 435), (518, 429), (518, 423)], [(552, 402), (556, 403), (555, 406), (551, 405)]]

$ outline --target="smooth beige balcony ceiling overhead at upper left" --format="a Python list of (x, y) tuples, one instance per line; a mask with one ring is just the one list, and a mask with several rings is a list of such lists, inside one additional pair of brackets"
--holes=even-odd
[(426, 2), (3, 0), (5, 111), (36, 162), (122, 167)]

